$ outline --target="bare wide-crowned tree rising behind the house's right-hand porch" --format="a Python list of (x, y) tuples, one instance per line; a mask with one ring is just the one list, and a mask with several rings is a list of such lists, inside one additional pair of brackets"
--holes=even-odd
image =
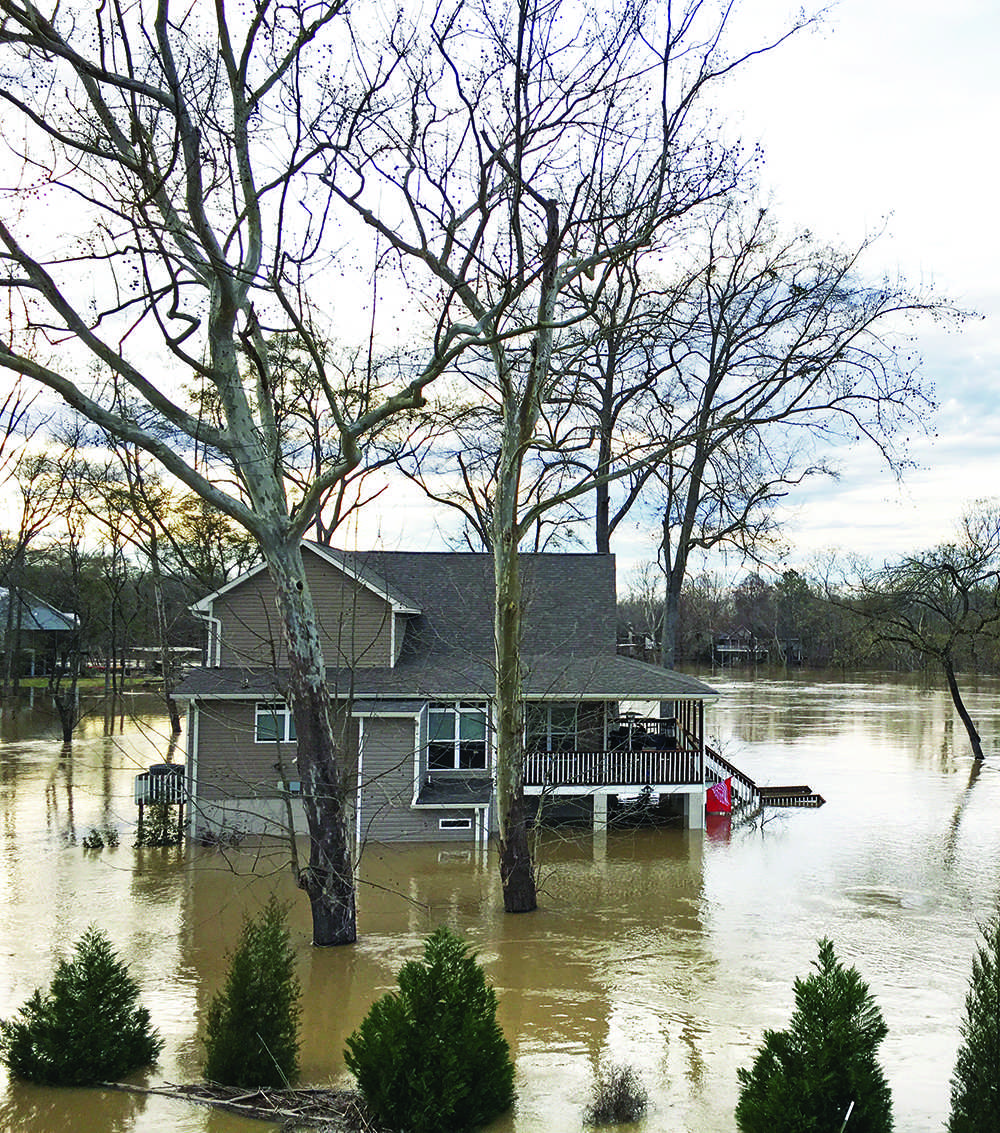
[(636, 503), (659, 514), (667, 667), (691, 553), (729, 546), (759, 562), (777, 535), (775, 504), (835, 472), (822, 444), (866, 441), (899, 470), (900, 426), (920, 427), (932, 406), (905, 321), (959, 317), (933, 293), (867, 282), (871, 238), (823, 247), (726, 202), (690, 242), (673, 287), (636, 278), (615, 308), (598, 308), (595, 363), (575, 380), (600, 436), (598, 468), (627, 461), (623, 438), (634, 445), (636, 432), (676, 441), (610, 506), (599, 499), (596, 517), (600, 548)]

